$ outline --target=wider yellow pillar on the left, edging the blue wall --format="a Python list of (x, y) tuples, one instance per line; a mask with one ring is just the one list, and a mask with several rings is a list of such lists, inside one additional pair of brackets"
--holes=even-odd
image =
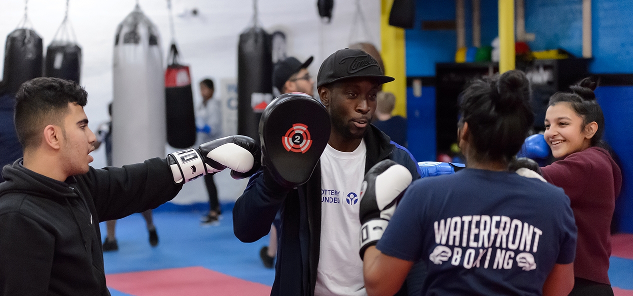
[(389, 12), (393, 0), (380, 0), (380, 56), (385, 75), (396, 78), (385, 83), (382, 90), (396, 95), (393, 115), (406, 117), (406, 60), (404, 58), (404, 29), (389, 25)]

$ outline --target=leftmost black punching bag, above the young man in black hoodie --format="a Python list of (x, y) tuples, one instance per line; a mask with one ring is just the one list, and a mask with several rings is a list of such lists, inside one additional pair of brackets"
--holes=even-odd
[(15, 94), (22, 83), (42, 77), (42, 38), (29, 28), (18, 28), (6, 37), (4, 85)]

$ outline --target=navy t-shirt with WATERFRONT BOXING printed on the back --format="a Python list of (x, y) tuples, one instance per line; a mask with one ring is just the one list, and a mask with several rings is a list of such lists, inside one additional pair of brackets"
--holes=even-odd
[(561, 188), (465, 169), (412, 183), (376, 247), (426, 262), (422, 295), (541, 295), (554, 264), (573, 262), (576, 233)]

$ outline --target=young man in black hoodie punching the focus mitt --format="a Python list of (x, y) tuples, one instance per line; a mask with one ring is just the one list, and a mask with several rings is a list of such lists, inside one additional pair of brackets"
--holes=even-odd
[[(232, 149), (241, 156), (223, 157), (258, 167), (254, 142), (236, 136), (167, 159), (91, 168), (96, 137), (84, 113), (86, 97), (77, 83), (58, 78), (25, 82), (16, 95), (24, 157), (3, 168), (0, 184), (0, 295), (110, 295), (99, 222), (153, 209), (197, 176), (237, 168), (210, 154), (227, 141), (244, 148)], [(221, 165), (211, 167), (213, 160)], [(248, 173), (244, 167), (239, 172)]]

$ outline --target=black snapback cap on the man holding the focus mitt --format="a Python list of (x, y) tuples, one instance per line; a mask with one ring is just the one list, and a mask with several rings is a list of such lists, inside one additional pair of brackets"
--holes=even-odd
[(323, 61), (316, 77), (316, 87), (354, 77), (374, 78), (380, 84), (395, 80), (385, 76), (378, 61), (367, 52), (346, 48), (339, 49)]

